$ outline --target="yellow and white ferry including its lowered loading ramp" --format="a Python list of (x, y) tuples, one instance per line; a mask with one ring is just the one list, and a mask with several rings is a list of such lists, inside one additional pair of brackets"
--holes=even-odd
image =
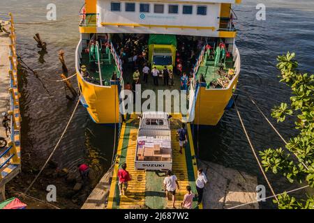
[[(171, 165), (166, 169), (171, 169), (179, 181), (175, 206), (180, 206), (186, 186), (196, 192), (197, 160), (191, 124), (216, 125), (232, 104), (240, 72), (234, 27), (237, 16), (232, 10), (236, 3), (241, 1), (85, 1), (80, 11), (80, 42), (75, 64), (80, 100), (95, 123), (120, 125), (107, 203), (105, 189), (99, 191), (100, 186), (97, 186), (82, 208), (172, 207), (172, 201), (165, 199), (162, 191), (165, 174), (140, 166), (142, 160), (145, 167), (151, 167), (151, 160), (146, 157), (149, 155), (157, 160), (161, 154), (163, 160), (162, 153), (155, 154), (163, 143), (160, 146), (151, 144), (150, 150), (145, 151), (146, 144), (142, 146), (139, 141), (142, 134), (137, 115), (145, 111), (120, 115), (124, 114), (124, 106), (119, 106), (122, 101), (119, 95), (124, 89), (134, 90), (139, 85), (137, 69), (140, 70), (142, 91), (177, 89), (187, 92), (186, 114), (170, 112), (170, 130), (163, 137), (171, 141), (167, 141), (171, 154), (164, 155), (164, 160), (170, 157)], [(150, 75), (148, 82), (142, 78), (144, 64), (150, 70), (156, 67), (160, 71), (154, 84)], [(159, 77), (163, 76), (163, 69), (172, 72), (174, 84), (171, 81), (170, 86), (160, 83), (163, 82)], [(188, 79), (182, 79), (184, 72)], [(159, 125), (160, 120), (154, 120), (154, 123)], [(181, 123), (186, 123), (188, 142), (179, 153), (177, 129)], [(117, 173), (124, 163), (132, 180), (128, 193), (120, 195)], [(107, 185), (102, 181), (105, 178), (106, 175), (100, 180), (101, 188)], [(193, 208), (202, 208), (202, 204), (197, 205), (194, 199)]]

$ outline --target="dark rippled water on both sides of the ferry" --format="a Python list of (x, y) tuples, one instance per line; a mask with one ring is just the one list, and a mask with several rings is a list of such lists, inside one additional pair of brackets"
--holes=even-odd
[[(69, 73), (75, 72), (75, 47), (79, 40), (78, 11), (83, 1), (70, 0), (1, 0), (0, 11), (12, 12), (17, 22), (17, 52), (22, 59), (40, 76), (59, 79), (61, 66), (59, 49), (66, 52)], [(290, 90), (278, 82), (276, 56), (287, 51), (296, 52), (301, 70), (314, 70), (314, 2), (312, 0), (259, 1), (267, 6), (266, 21), (255, 20), (256, 3), (244, 1), (235, 8), (239, 17), (237, 46), (241, 53), (241, 76), (237, 105), (244, 118), (244, 124), (257, 151), (264, 148), (283, 146), (269, 125), (258, 114), (254, 105), (241, 89), (246, 89), (257, 101), (263, 112), (270, 117), (270, 109), (281, 101), (288, 101)], [(57, 23), (20, 24), (46, 22), (46, 6), (57, 5)], [(48, 54), (40, 58), (33, 35), (40, 33), (47, 42)], [(43, 63), (43, 59), (45, 63)], [(61, 132), (72, 112), (75, 102), (65, 98), (63, 84), (43, 80), (45, 91), (32, 74), (22, 75), (22, 146), (33, 151), (41, 162), (57, 143)], [(75, 83), (76, 85), (76, 83)], [(276, 123), (273, 121), (273, 123)], [(295, 131), (291, 123), (276, 124), (285, 139)], [(195, 130), (197, 138), (197, 131)], [(259, 183), (266, 185), (246, 141), (234, 109), (227, 112), (216, 127), (200, 130), (200, 157), (244, 170), (258, 176)], [(89, 120), (86, 110), (79, 107), (70, 128), (56, 154), (60, 167), (75, 169), (77, 162), (85, 160), (93, 165), (98, 176), (110, 166), (114, 130), (96, 125)], [(195, 140), (197, 144), (197, 140)], [(276, 192), (297, 187), (279, 176), (268, 174)], [(265, 206), (271, 207), (271, 203)]]

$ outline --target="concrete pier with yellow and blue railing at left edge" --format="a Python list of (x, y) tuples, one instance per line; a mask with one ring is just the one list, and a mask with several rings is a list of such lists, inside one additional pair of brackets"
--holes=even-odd
[[(13, 16), (1, 14), (1, 26), (8, 33), (0, 33), (0, 114), (8, 113), (10, 132), (1, 125), (0, 137), (7, 141), (5, 148), (0, 148), (0, 201), (6, 199), (6, 183), (21, 171), (20, 153), (20, 93), (17, 88), (17, 54), (15, 50), (15, 29)], [(1, 115), (1, 121), (3, 116)]]

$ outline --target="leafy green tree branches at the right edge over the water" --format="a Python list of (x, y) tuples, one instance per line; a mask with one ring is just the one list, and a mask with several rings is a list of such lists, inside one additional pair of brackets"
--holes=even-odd
[[(281, 103), (274, 107), (271, 116), (277, 122), (286, 118), (294, 118), (294, 128), (298, 134), (292, 137), (285, 148), (268, 148), (261, 151), (262, 165), (265, 171), (271, 170), (274, 174), (282, 174), (290, 181), (308, 183), (314, 187), (314, 75), (302, 74), (297, 70), (298, 62), (295, 54), (287, 52), (278, 56), (277, 68), (281, 71), (281, 82), (290, 86), (292, 97), (290, 105)], [(297, 158), (296, 158), (297, 157)], [(314, 208), (314, 196), (306, 200), (297, 201), (288, 194), (278, 196), (278, 208)]]

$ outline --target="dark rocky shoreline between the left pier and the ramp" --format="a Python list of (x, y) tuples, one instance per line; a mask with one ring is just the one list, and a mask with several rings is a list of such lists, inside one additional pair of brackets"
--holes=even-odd
[[(53, 208), (30, 197), (21, 196), (21, 193), (27, 189), (41, 168), (39, 164), (30, 162), (30, 160), (27, 160), (27, 157), (23, 157), (23, 154), (22, 160), (22, 173), (6, 185), (6, 198), (18, 197), (22, 202), (27, 203), (27, 208), (29, 209)], [(91, 170), (88, 182), (83, 184), (78, 172), (73, 173), (68, 171), (68, 169), (60, 170), (57, 166), (57, 163), (49, 162), (27, 194), (41, 201), (46, 201), (47, 185), (55, 185), (57, 188), (57, 201), (50, 202), (53, 206), (61, 209), (81, 208), (94, 188), (92, 185), (92, 182), (95, 181), (93, 180), (93, 171)]]

